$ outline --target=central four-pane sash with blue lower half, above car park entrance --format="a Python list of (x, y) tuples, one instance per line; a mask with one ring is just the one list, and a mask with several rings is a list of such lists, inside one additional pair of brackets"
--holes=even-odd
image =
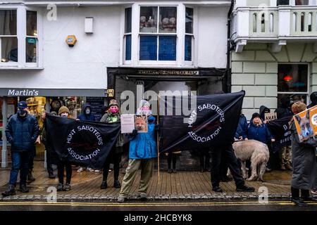
[(176, 60), (176, 25), (176, 7), (141, 6), (139, 60)]

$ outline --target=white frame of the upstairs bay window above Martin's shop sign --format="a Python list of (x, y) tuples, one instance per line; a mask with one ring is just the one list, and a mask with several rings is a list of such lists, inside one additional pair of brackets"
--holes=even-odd
[[(42, 68), (42, 11), (38, 8), (31, 8), (20, 5), (0, 6), (0, 9), (13, 9), (17, 11), (17, 37), (18, 37), (18, 62), (1, 63), (1, 69), (41, 69)], [(26, 12), (37, 12), (37, 63), (26, 63)], [(13, 35), (14, 36), (14, 35)], [(8, 36), (6, 36), (8, 37)]]

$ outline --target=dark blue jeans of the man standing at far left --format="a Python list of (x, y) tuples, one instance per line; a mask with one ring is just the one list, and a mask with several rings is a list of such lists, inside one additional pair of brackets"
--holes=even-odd
[(30, 151), (27, 152), (11, 152), (12, 158), (12, 168), (10, 173), (10, 181), (9, 184), (14, 185), (18, 180), (18, 173), (20, 169), (20, 184), (26, 185), (27, 174), (29, 172), (29, 162), (32, 153)]

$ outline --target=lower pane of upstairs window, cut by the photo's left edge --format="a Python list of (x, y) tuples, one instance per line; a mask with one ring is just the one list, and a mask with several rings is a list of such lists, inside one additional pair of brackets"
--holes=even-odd
[(1, 37), (1, 62), (18, 62), (17, 37)]

